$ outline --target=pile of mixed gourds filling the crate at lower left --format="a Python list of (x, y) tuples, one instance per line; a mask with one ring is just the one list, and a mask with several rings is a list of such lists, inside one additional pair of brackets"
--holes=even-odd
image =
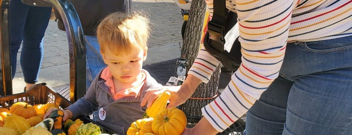
[[(49, 108), (56, 108), (52, 111), (48, 118), (43, 119)], [(100, 134), (100, 127), (93, 123), (84, 124), (83, 121), (77, 119), (75, 121), (67, 119), (62, 122), (63, 111), (55, 103), (30, 105), (26, 102), (17, 102), (7, 108), (0, 108), (0, 134), (6, 132), (7, 135), (12, 134), (69, 134), (75, 135), (77, 132), (86, 134), (89, 132)], [(82, 126), (81, 126), (82, 125)], [(86, 125), (86, 126), (83, 126)], [(89, 127), (87, 127), (89, 126)], [(80, 134), (78, 133), (78, 134)]]

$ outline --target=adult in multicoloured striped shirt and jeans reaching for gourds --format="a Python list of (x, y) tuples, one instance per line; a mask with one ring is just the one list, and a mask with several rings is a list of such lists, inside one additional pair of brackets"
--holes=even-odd
[[(213, 0), (205, 2), (212, 14)], [(352, 134), (351, 7), (350, 0), (226, 1), (238, 15), (242, 63), (183, 134), (222, 132), (245, 113), (244, 134)], [(168, 107), (184, 103), (219, 63), (202, 47)], [(157, 97), (147, 93), (143, 103)]]

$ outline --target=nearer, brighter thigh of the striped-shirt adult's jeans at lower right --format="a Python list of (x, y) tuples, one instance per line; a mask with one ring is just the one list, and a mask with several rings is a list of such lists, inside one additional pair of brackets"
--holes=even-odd
[(347, 68), (297, 79), (288, 100), (284, 134), (351, 134), (351, 75), (352, 68)]

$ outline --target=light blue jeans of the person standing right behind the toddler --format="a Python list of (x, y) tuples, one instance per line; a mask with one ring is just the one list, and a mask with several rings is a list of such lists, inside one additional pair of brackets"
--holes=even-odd
[(103, 57), (100, 54), (100, 46), (98, 43), (97, 36), (85, 35), (85, 47), (86, 47), (86, 90), (93, 79), (98, 75), (98, 73), (106, 66)]

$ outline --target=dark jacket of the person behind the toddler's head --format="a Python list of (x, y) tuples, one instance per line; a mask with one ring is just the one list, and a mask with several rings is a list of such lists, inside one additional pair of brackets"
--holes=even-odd
[[(84, 35), (97, 35), (96, 30), (100, 21), (113, 12), (130, 12), (131, 0), (72, 0), (80, 18)], [(57, 27), (65, 30), (62, 19), (55, 11)]]

